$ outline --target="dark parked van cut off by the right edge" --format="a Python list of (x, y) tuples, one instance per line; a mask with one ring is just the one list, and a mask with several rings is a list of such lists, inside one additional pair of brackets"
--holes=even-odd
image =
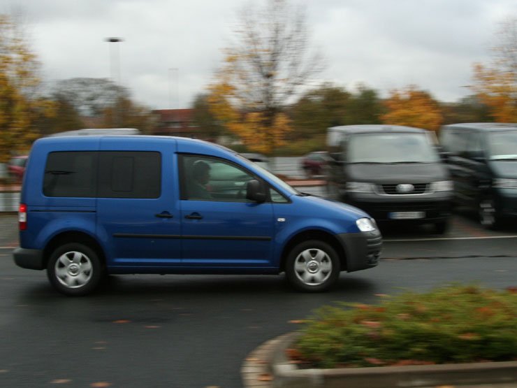
[(489, 229), (517, 216), (517, 124), (446, 125), (439, 140), (454, 180), (455, 203), (476, 208)]

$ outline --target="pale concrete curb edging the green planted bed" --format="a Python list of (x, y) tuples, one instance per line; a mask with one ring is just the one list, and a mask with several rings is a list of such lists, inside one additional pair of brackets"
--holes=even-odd
[(244, 387), (515, 388), (517, 361), (372, 368), (298, 369), (285, 350), (298, 333), (270, 340), (242, 366)]

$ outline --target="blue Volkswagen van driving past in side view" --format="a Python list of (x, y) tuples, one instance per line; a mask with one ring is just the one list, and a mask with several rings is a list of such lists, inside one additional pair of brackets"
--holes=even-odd
[(277, 274), (307, 292), (377, 266), (370, 216), (300, 193), (236, 152), (169, 136), (65, 136), (32, 147), (19, 212), (22, 268), (61, 293), (105, 275)]

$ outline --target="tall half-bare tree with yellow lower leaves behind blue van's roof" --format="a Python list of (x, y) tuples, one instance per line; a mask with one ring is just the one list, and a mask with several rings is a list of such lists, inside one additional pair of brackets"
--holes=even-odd
[(308, 52), (305, 13), (286, 0), (249, 4), (235, 36), (210, 86), (210, 107), (249, 148), (271, 153), (291, 129), (284, 109), (321, 69), (319, 57)]

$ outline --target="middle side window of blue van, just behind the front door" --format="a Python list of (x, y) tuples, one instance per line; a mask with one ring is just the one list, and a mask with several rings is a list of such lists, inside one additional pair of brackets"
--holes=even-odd
[(161, 193), (159, 152), (99, 152), (101, 198), (158, 198)]

